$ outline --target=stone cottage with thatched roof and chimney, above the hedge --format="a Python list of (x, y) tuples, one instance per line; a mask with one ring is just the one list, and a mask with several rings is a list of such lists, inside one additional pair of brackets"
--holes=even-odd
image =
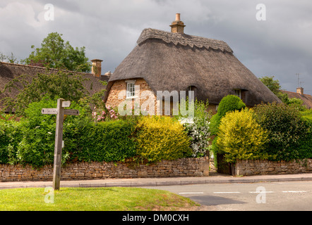
[[(133, 106), (138, 104), (150, 114), (167, 115), (188, 93), (199, 101), (208, 100), (214, 113), (229, 94), (239, 96), (251, 107), (261, 102), (280, 103), (234, 56), (227, 43), (185, 34), (179, 13), (170, 27), (171, 32), (143, 30), (137, 46), (109, 79), (104, 98), (107, 105), (116, 107), (132, 101)], [(166, 109), (166, 104), (171, 108)]]

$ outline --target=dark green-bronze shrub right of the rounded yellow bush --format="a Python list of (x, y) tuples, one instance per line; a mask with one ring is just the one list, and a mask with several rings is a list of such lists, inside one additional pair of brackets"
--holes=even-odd
[[(309, 132), (308, 123), (301, 118), (299, 110), (294, 106), (269, 103), (257, 105), (256, 120), (268, 130), (268, 146), (266, 152), (271, 160), (292, 160), (300, 158), (299, 148)], [(311, 151), (311, 147), (306, 150)]]

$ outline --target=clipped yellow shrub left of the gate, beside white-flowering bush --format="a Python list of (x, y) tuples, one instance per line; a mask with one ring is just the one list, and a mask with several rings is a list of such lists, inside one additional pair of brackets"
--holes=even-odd
[(191, 155), (184, 127), (171, 117), (142, 117), (137, 124), (137, 154), (148, 162), (176, 160)]

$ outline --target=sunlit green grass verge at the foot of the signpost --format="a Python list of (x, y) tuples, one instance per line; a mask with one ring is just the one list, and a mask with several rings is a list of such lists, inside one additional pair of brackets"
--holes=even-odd
[(169, 191), (145, 188), (61, 188), (54, 195), (44, 191), (44, 188), (0, 190), (0, 211), (149, 211), (198, 206)]

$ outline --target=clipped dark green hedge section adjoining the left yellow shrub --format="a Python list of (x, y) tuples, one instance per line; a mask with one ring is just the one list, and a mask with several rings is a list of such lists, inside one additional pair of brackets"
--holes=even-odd
[(135, 124), (126, 120), (89, 123), (78, 138), (79, 161), (122, 161), (136, 155)]

